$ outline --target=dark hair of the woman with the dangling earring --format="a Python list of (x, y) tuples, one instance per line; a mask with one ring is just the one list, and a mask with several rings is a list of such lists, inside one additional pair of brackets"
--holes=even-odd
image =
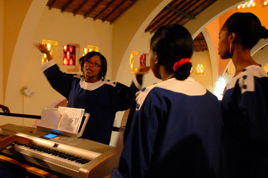
[(240, 39), (243, 49), (251, 49), (260, 38), (268, 37), (268, 30), (261, 26), (259, 18), (250, 12), (236, 12), (222, 26), (222, 30), (235, 33)]

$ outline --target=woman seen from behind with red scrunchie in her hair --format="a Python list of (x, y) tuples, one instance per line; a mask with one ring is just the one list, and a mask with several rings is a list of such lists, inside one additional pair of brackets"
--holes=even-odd
[(162, 82), (136, 93), (110, 177), (219, 177), (220, 104), (189, 77), (193, 47), (188, 30), (177, 24), (153, 35), (150, 66)]

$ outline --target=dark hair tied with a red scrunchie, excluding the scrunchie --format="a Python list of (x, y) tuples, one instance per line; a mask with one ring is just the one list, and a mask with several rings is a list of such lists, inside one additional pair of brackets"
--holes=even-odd
[[(178, 24), (161, 26), (153, 35), (150, 48), (157, 53), (158, 63), (174, 71), (175, 62), (183, 58), (191, 58), (194, 42), (189, 31)], [(185, 80), (190, 75), (192, 64), (185, 63), (174, 75), (178, 80)]]

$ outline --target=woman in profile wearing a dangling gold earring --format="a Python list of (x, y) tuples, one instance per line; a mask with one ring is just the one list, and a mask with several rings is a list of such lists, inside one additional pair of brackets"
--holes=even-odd
[(268, 76), (250, 50), (268, 31), (252, 13), (231, 15), (219, 33), (219, 55), (236, 72), (222, 98), (226, 177), (268, 177)]

